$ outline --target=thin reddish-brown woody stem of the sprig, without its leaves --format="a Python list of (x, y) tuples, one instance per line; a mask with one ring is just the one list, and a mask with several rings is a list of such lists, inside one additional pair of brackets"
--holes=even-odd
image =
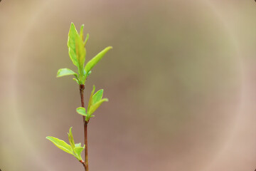
[[(81, 97), (81, 105), (82, 108), (85, 108), (85, 102), (84, 102), (84, 90), (85, 85), (80, 85), (80, 97)], [(88, 166), (88, 145), (87, 145), (87, 122), (85, 120), (85, 116), (82, 116), (83, 125), (84, 125), (84, 133), (85, 133), (85, 162), (82, 162), (82, 165), (85, 167), (85, 171), (89, 171)]]

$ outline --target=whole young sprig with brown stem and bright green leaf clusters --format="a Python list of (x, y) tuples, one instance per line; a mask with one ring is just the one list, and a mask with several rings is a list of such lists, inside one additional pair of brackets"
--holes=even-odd
[[(107, 53), (107, 51), (110, 51), (112, 46), (108, 46), (107, 48), (103, 49), (100, 53), (97, 53), (95, 57), (93, 57), (90, 61), (88, 61), (85, 64), (85, 56), (86, 56), (86, 48), (85, 45), (89, 39), (89, 34), (87, 34), (86, 38), (84, 39), (83, 35), (83, 28), (84, 25), (80, 27), (80, 34), (75, 28), (75, 25), (71, 23), (70, 31), (68, 33), (68, 54), (70, 56), (71, 61), (75, 66), (78, 67), (78, 72), (70, 70), (69, 68), (61, 68), (57, 72), (57, 77), (62, 76), (75, 76), (73, 80), (78, 83), (80, 87), (80, 98), (81, 98), (81, 107), (77, 108), (76, 111), (80, 115), (82, 115), (82, 120), (84, 123), (84, 132), (85, 132), (85, 145), (81, 147), (81, 143), (75, 144), (73, 134), (72, 134), (72, 127), (70, 128), (70, 131), (68, 133), (68, 140), (70, 142), (70, 145), (68, 145), (67, 142), (63, 140), (59, 140), (58, 138), (54, 137), (46, 137), (48, 140), (53, 142), (54, 145), (56, 145), (58, 148), (63, 150), (64, 152), (69, 153), (70, 155), (73, 155), (82, 163), (82, 165), (85, 167), (85, 171), (89, 170), (88, 167), (88, 145), (87, 145), (87, 124), (89, 123), (90, 118), (95, 117), (95, 115), (92, 115), (92, 113), (95, 113), (95, 110), (102, 105), (103, 102), (108, 101), (107, 98), (102, 98), (103, 95), (103, 89), (98, 90), (95, 92), (95, 86), (93, 86), (92, 93), (90, 95), (90, 100), (87, 105), (87, 112), (85, 110), (85, 104), (84, 104), (84, 89), (85, 89), (85, 81), (87, 80), (87, 77), (92, 72), (92, 68), (102, 59), (103, 56)], [(85, 149), (85, 161), (82, 160), (81, 153), (82, 150)]]

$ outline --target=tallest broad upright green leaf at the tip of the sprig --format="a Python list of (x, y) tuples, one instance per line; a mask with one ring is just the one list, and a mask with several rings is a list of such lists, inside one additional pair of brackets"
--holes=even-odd
[(71, 23), (70, 31), (68, 33), (68, 54), (75, 66), (78, 66), (78, 58), (75, 51), (75, 39), (77, 36), (79, 36), (78, 31), (75, 29), (75, 25)]

